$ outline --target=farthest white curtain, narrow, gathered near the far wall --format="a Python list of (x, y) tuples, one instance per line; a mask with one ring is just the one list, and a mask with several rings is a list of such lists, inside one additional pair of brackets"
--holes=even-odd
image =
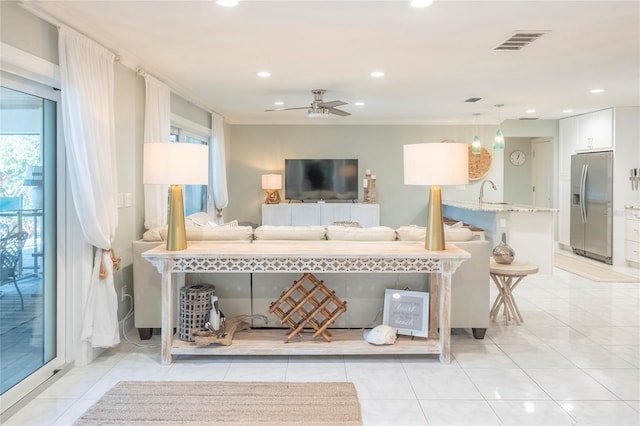
[(229, 203), (227, 193), (227, 167), (224, 152), (224, 120), (218, 114), (211, 114), (211, 146), (209, 147), (209, 186), (207, 210), (216, 213), (216, 223), (222, 225), (222, 209)]

